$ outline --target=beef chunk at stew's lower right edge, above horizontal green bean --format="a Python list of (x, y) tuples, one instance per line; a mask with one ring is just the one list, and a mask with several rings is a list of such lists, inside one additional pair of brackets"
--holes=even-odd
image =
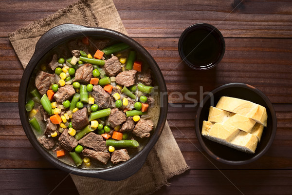
[(150, 131), (152, 131), (154, 127), (154, 124), (152, 120), (139, 120), (139, 122), (136, 124), (133, 134), (137, 137), (149, 137), (150, 136)]

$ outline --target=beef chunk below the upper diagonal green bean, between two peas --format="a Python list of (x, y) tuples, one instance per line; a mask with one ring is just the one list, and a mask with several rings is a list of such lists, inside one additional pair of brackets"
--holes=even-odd
[(92, 78), (93, 66), (91, 64), (84, 64), (75, 72), (73, 82), (80, 82), (81, 84), (88, 84)]

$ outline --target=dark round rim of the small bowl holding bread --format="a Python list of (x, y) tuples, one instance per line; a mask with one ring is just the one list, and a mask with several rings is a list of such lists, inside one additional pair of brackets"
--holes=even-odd
[(201, 147), (203, 148), (203, 150), (210, 155), (211, 157), (213, 157), (214, 159), (218, 160), (219, 162), (225, 163), (225, 164), (229, 164), (229, 165), (243, 165), (243, 164), (247, 164), (247, 163), (251, 163), (255, 160), (257, 160), (258, 158), (260, 158), (261, 156), (263, 156), (271, 147), (273, 141), (274, 141), (274, 137), (276, 135), (276, 130), (277, 130), (277, 118), (276, 118), (276, 113), (274, 111), (274, 107), (272, 102), (270, 101), (270, 99), (259, 89), (257, 89), (256, 87), (249, 85), (249, 84), (245, 84), (245, 83), (228, 83), (228, 84), (224, 84), (221, 85), (219, 87), (217, 87), (216, 89), (211, 91), (211, 94), (215, 94), (217, 92), (219, 92), (222, 89), (226, 89), (226, 88), (230, 88), (230, 87), (240, 87), (240, 88), (246, 88), (249, 89), (253, 92), (255, 92), (257, 95), (259, 95), (261, 98), (263, 98), (263, 100), (267, 103), (268, 105), (268, 109), (270, 110), (271, 116), (272, 116), (272, 122), (273, 122), (273, 127), (272, 127), (272, 134), (271, 137), (268, 140), (267, 145), (265, 146), (265, 148), (259, 152), (258, 154), (254, 155), (253, 157), (247, 159), (247, 160), (226, 160), (223, 159), (219, 156), (217, 156), (216, 154), (214, 154), (205, 144), (205, 142), (202, 139), (201, 136), (201, 129), (200, 129), (200, 124), (199, 124), (199, 120), (200, 120), (200, 115), (201, 115), (201, 111), (202, 111), (202, 107), (203, 105), (209, 100), (210, 96), (207, 95), (205, 98), (203, 98), (203, 102), (202, 106), (199, 106), (198, 111), (196, 113), (196, 118), (195, 118), (195, 131), (196, 131), (196, 136), (197, 139), (199, 140), (199, 143), (201, 144)]

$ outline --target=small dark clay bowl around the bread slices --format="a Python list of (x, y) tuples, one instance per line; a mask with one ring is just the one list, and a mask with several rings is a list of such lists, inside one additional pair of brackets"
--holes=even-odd
[[(201, 135), (202, 123), (203, 120), (208, 120), (210, 106), (215, 107), (222, 96), (249, 100), (262, 105), (267, 109), (267, 127), (265, 127), (263, 130), (263, 134), (260, 142), (257, 144), (255, 154), (247, 154), (237, 151), (235, 149), (211, 141)], [(242, 165), (255, 161), (260, 156), (263, 156), (265, 152), (267, 152), (267, 150), (272, 145), (276, 135), (277, 119), (271, 101), (261, 91), (248, 84), (230, 83), (216, 88), (210, 93), (210, 95), (207, 95), (203, 99), (202, 105), (200, 105), (196, 115), (195, 126), (197, 138), (206, 153), (219, 162), (231, 165)]]

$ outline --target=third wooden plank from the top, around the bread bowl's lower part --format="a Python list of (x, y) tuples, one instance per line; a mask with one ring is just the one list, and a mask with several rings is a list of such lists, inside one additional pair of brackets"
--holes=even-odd
[[(197, 107), (169, 104), (167, 120), (171, 131), (192, 169), (291, 169), (292, 104), (275, 104), (277, 134), (268, 152), (253, 163), (230, 166), (219, 163), (203, 152), (195, 134)], [(33, 148), (22, 129), (17, 103), (0, 103), (0, 168), (54, 168)]]

